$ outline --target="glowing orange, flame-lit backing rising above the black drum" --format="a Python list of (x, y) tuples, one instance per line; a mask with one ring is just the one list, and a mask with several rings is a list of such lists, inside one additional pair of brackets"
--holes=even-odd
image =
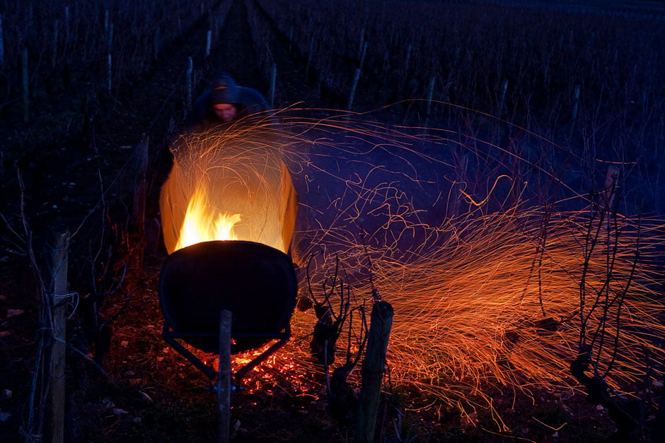
[(211, 240), (289, 251), (298, 197), (277, 135), (233, 134), (183, 136), (173, 150), (159, 202), (169, 254)]

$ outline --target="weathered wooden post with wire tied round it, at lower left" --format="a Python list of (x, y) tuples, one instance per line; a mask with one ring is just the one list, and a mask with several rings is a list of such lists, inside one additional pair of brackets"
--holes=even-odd
[(69, 232), (59, 235), (53, 252), (53, 294), (50, 297), (53, 342), (50, 355), (48, 433), (51, 442), (64, 441), (64, 366), (67, 324), (67, 248)]

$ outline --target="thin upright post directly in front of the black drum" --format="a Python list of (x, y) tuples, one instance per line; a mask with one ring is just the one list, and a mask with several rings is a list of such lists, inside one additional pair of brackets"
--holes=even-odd
[(231, 430), (231, 311), (219, 312), (219, 371), (217, 372), (219, 442), (227, 443)]

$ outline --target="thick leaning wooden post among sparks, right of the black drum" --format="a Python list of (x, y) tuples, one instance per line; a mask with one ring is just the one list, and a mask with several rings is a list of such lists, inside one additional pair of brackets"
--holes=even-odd
[(357, 442), (374, 442), (381, 380), (386, 365), (388, 338), (393, 326), (393, 307), (388, 302), (376, 302), (371, 311), (365, 360), (362, 363), (362, 386), (356, 425)]

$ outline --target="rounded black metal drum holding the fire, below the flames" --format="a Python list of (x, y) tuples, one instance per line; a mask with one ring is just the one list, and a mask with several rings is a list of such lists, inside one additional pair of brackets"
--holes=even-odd
[(232, 313), (232, 353), (290, 333), (296, 293), (296, 274), (287, 254), (237, 240), (178, 249), (166, 258), (159, 280), (166, 326), (173, 336), (206, 352), (219, 350), (223, 309)]

